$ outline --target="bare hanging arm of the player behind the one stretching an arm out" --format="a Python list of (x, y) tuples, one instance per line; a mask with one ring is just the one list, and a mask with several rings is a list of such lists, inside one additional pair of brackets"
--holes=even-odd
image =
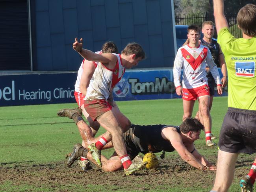
[(93, 73), (95, 71), (95, 64), (93, 61), (87, 61), (85, 60), (83, 63), (83, 74), (80, 80), (80, 91), (83, 95), (86, 95), (87, 87), (89, 86), (90, 79), (93, 76)]

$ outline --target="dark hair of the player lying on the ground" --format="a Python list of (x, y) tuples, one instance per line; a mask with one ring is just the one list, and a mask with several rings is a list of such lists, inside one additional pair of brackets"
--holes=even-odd
[(180, 131), (182, 133), (188, 133), (189, 131), (198, 132), (203, 129), (204, 126), (196, 118), (187, 118), (180, 125)]

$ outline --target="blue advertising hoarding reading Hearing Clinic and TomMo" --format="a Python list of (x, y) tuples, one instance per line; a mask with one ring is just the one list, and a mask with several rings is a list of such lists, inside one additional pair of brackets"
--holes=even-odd
[[(75, 102), (76, 77), (76, 73), (0, 76), (0, 106)], [(175, 91), (173, 70), (126, 71), (113, 96), (115, 101), (181, 98)]]

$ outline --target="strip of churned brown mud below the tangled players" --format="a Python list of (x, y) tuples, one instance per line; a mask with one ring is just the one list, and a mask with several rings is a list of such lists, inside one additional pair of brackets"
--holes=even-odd
[[(238, 162), (238, 167), (239, 165), (241, 166), (241, 163)], [(239, 172), (236, 177), (241, 177), (243, 174), (245, 172)], [(181, 159), (167, 158), (161, 160), (157, 169), (140, 170), (131, 176), (124, 176), (123, 171), (103, 172), (95, 166), (83, 172), (76, 162), (68, 168), (65, 161), (53, 164), (2, 163), (0, 166), (0, 184), (10, 181), (14, 186), (26, 184), (37, 188), (49, 186), (61, 192), (70, 191), (75, 185), (82, 185), (85, 188), (88, 185), (102, 185), (106, 191), (146, 191), (154, 188), (166, 190), (167, 186), (179, 185), (209, 188), (213, 185), (214, 178), (215, 172), (202, 172)]]

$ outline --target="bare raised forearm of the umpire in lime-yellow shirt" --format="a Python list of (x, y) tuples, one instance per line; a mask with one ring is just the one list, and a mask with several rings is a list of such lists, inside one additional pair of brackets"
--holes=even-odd
[(226, 17), (224, 15), (224, 2), (223, 0), (213, 0), (213, 15), (215, 18), (215, 26), (217, 33), (222, 28), (227, 27), (228, 28), (228, 22), (226, 20)]

